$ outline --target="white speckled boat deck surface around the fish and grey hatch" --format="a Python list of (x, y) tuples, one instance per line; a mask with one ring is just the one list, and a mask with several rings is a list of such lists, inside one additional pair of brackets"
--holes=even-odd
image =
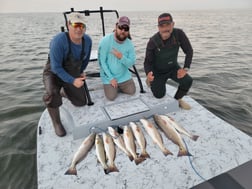
[[(167, 86), (167, 97), (154, 99), (149, 89), (144, 87), (147, 91), (145, 94), (137, 93), (132, 97), (121, 95), (117, 100), (130, 101), (130, 99), (141, 98), (148, 105), (155, 105), (156, 101), (167, 102), (167, 99), (172, 99), (171, 96), (175, 93), (173, 87)], [(91, 96), (95, 104), (113, 103), (106, 101), (103, 90), (94, 90)], [(42, 130), (37, 140), (38, 188), (191, 188), (252, 159), (250, 136), (216, 117), (190, 97), (184, 99), (192, 106), (190, 111), (179, 109), (168, 114), (184, 128), (200, 136), (196, 142), (183, 136), (193, 155), (191, 159), (187, 156), (177, 157), (178, 147), (161, 133), (165, 146), (174, 154), (165, 157), (141, 127), (151, 158), (137, 166), (117, 148), (115, 164), (119, 172), (108, 175), (104, 174), (101, 165), (97, 163), (95, 148), (91, 149), (87, 157), (77, 165), (77, 176), (64, 175), (74, 153), (84, 139), (73, 140), (71, 125), (73, 120), (75, 127), (90, 123), (83, 119), (83, 116), (88, 113), (90, 120), (102, 120), (102, 117), (97, 117), (93, 113), (97, 110), (87, 111), (76, 108), (68, 100), (64, 100), (63, 109), (67, 108), (71, 114), (64, 114), (65, 110), (61, 109), (62, 121), (68, 132), (63, 138), (55, 135), (49, 115), (44, 111), (38, 124)], [(88, 108), (92, 107), (85, 107)], [(149, 120), (153, 122), (152, 119)], [(137, 123), (141, 126), (139, 122)], [(139, 148), (137, 151), (139, 152)]]

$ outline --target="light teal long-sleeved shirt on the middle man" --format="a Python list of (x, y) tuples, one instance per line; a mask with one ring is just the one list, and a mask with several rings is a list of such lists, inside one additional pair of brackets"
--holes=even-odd
[[(112, 79), (116, 79), (118, 83), (131, 79), (129, 68), (136, 62), (132, 41), (127, 38), (122, 43), (118, 43), (114, 35), (114, 33), (106, 35), (99, 43), (98, 61), (103, 84), (110, 84)], [(113, 49), (123, 54), (121, 59), (112, 54)]]

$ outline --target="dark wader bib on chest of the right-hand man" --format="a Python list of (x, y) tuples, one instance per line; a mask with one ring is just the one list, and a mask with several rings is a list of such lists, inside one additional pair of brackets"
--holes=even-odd
[(178, 66), (177, 59), (180, 43), (177, 32), (177, 29), (174, 28), (171, 37), (166, 41), (166, 44), (164, 44), (159, 33), (156, 33), (151, 37), (151, 40), (156, 46), (153, 64), (154, 72), (167, 73)]

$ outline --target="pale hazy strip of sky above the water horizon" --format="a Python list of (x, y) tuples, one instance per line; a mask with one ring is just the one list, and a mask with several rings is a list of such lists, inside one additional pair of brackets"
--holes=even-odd
[(252, 0), (0, 0), (0, 13), (62, 12), (116, 9), (118, 11), (252, 9)]

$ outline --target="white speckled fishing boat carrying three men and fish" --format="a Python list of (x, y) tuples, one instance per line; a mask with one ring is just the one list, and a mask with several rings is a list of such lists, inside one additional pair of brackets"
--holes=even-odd
[[(64, 12), (65, 19), (67, 14)], [(101, 15), (115, 10), (78, 11), (86, 16), (93, 13)], [(102, 24), (104, 27), (104, 23)], [(104, 30), (103, 30), (104, 31)], [(105, 33), (103, 33), (105, 35)], [(96, 61), (92, 55), (90, 61)], [(65, 137), (57, 137), (49, 114), (42, 113), (37, 132), (37, 176), (38, 188), (165, 188), (165, 189), (213, 189), (213, 188), (251, 188), (249, 171), (252, 167), (252, 137), (236, 129), (201, 106), (190, 96), (183, 99), (191, 110), (182, 110), (174, 100), (176, 88), (167, 84), (167, 94), (162, 99), (153, 97), (137, 70), (133, 68), (133, 78), (137, 92), (133, 96), (120, 94), (115, 101), (104, 96), (102, 84), (97, 73), (87, 74), (85, 88), (88, 92), (88, 105), (75, 107), (66, 98), (60, 107), (62, 123), (67, 131)], [(90, 133), (107, 132), (107, 127), (121, 126), (146, 118), (153, 124), (153, 114), (165, 114), (191, 133), (199, 136), (193, 141), (183, 136), (183, 142), (192, 156), (177, 157), (178, 147), (164, 133), (160, 132), (164, 145), (174, 155), (164, 156), (144, 129), (147, 151), (150, 155), (139, 165), (116, 148), (115, 164), (119, 172), (104, 174), (97, 163), (95, 147), (77, 165), (77, 175), (65, 175), (74, 153)], [(139, 148), (137, 148), (139, 151)]]

